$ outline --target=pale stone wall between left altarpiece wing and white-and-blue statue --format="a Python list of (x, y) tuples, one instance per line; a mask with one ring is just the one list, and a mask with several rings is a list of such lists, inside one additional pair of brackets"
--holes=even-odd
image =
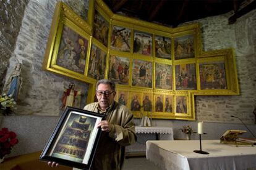
[[(6, 76), (7, 78), (8, 73), (14, 69), (17, 61), (22, 63), (23, 82), (15, 111), (17, 114), (58, 116), (62, 112), (61, 97), (64, 88), (68, 88), (71, 82), (75, 83), (75, 90), (82, 93), (81, 107), (85, 105), (88, 84), (42, 70), (46, 43), (57, 2), (32, 0), (28, 2), (25, 9), (20, 33), (10, 59), (11, 67)], [(66, 1), (66, 3), (75, 9), (77, 14), (85, 16), (83, 9), (88, 5), (85, 1)]]

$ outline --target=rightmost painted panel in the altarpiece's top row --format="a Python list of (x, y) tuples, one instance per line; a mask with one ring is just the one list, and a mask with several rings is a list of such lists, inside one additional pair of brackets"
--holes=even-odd
[(174, 39), (174, 58), (189, 59), (195, 57), (194, 35), (181, 36)]

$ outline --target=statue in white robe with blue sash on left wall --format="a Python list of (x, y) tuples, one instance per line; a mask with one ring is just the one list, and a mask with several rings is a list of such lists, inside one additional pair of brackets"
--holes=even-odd
[(22, 86), (22, 77), (20, 75), (21, 72), (21, 63), (17, 63), (14, 70), (11, 71), (9, 78), (4, 84), (3, 94), (11, 95), (12, 98), (17, 101), (20, 87)]

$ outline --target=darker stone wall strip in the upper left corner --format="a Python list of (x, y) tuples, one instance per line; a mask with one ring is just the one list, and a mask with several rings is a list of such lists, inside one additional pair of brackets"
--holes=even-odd
[(0, 1), (0, 93), (28, 0)]

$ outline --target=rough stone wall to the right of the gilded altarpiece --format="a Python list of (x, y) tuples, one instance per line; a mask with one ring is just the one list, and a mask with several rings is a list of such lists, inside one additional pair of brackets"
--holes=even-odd
[(237, 65), (240, 94), (235, 96), (197, 96), (195, 113), (199, 121), (253, 124), (256, 107), (256, 10), (228, 25), (230, 13), (208, 17), (201, 23), (204, 51), (233, 48)]

